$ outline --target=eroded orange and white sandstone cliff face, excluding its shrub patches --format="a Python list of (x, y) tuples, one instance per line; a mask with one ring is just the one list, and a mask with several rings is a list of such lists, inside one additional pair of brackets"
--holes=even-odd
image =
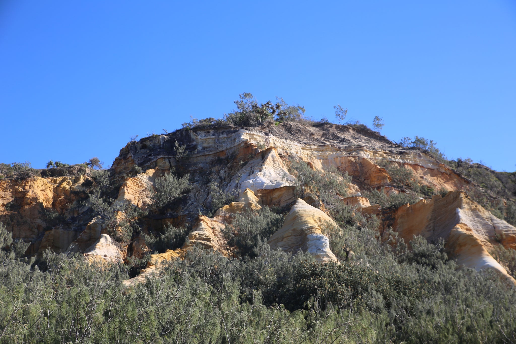
[[(190, 176), (185, 195), (167, 209), (138, 219), (143, 233), (161, 230), (167, 224), (189, 226), (188, 239), (180, 249), (152, 255), (147, 268), (128, 283), (159, 272), (160, 264), (184, 256), (195, 244), (232, 255), (223, 228), (231, 224), (236, 212), (265, 205), (288, 212), (281, 230), (269, 238), (271, 248), (308, 251), (323, 263), (337, 261), (322, 230), (325, 225), (336, 224), (324, 204), (297, 198), (299, 181), (288, 170), (288, 159), (301, 159), (321, 172), (331, 168), (347, 172), (352, 178), (346, 185), (344, 202), (356, 211), (377, 216), (380, 232), (392, 227), (407, 242), (413, 235), (428, 240), (443, 238), (459, 264), (495, 269), (512, 278), (488, 252), (499, 244), (516, 249), (516, 228), (467, 198), (461, 191), (473, 186), (453, 169), (423, 151), (402, 148), (368, 130), (330, 123), (306, 127), (269, 122), (253, 128), (177, 130), (130, 142), (120, 151), (109, 170), (110, 180), (120, 185), (116, 203), (149, 210), (156, 178), (169, 171)], [(396, 209), (371, 205), (363, 196), (367, 190), (405, 192), (393, 185), (381, 161), (411, 169), (419, 185), (450, 192), (444, 198), (436, 195)], [(112, 262), (141, 256), (147, 250), (141, 235), (114, 245), (87, 202), (80, 207), (74, 204), (87, 179), (87, 175), (79, 175), (0, 180), (0, 221), (7, 224), (14, 237), (33, 243), (28, 254), (49, 248), (80, 252), (88, 259), (102, 259), (105, 254), (105, 260)], [(239, 201), (209, 217), (214, 202), (210, 183), (237, 195)], [(52, 222), (47, 214), (58, 221)]]

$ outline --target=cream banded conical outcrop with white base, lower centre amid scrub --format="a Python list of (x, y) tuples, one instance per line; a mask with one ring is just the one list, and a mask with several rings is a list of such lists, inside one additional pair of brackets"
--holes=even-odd
[(328, 237), (322, 234), (328, 226), (337, 225), (324, 211), (297, 199), (283, 226), (267, 242), (272, 250), (308, 252), (322, 263), (337, 261)]

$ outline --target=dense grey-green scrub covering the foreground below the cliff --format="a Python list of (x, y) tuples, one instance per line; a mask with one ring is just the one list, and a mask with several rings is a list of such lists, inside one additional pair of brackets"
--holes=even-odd
[[(239, 221), (252, 234), (279, 218), (265, 210)], [(332, 240), (352, 251), (336, 252), (341, 264), (271, 251), (249, 235), (240, 248), (253, 253), (243, 259), (196, 248), (128, 288), (124, 265), (21, 258), (0, 226), (0, 342), (516, 341), (516, 294), (497, 276), (459, 270), (440, 242), (415, 238), (408, 249), (367, 225), (340, 231)]]

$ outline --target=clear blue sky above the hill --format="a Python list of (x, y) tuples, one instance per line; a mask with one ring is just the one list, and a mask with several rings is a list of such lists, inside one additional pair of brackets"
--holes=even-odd
[(516, 2), (0, 0), (0, 162), (106, 165), (238, 94), (516, 169)]

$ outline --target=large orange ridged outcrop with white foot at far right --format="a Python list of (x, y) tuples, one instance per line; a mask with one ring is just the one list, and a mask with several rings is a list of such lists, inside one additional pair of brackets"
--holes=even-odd
[[(406, 242), (421, 235), (429, 241), (446, 240), (446, 248), (458, 263), (477, 270), (492, 268), (512, 279), (488, 253), (501, 240), (513, 248), (516, 228), (493, 216), (460, 192), (449, 192), (414, 205), (403, 205), (389, 216), (384, 227), (391, 226)], [(512, 279), (513, 282), (516, 282)]]

